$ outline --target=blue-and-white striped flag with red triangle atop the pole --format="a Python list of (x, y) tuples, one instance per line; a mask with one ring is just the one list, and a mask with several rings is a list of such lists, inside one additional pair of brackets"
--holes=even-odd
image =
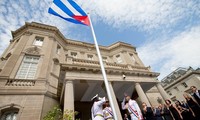
[(73, 0), (54, 0), (48, 13), (75, 24), (90, 25), (87, 14)]

